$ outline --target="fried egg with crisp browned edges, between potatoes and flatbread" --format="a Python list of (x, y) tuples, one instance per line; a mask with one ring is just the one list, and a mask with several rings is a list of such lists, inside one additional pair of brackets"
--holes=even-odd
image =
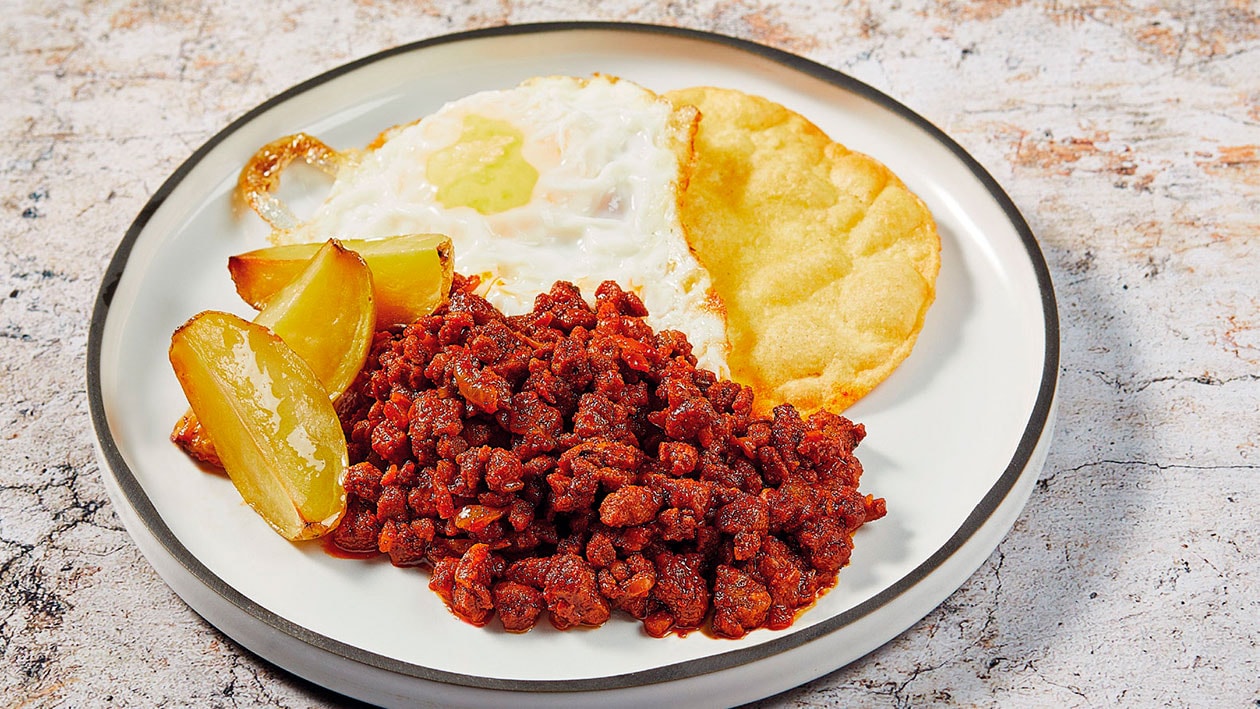
[(475, 93), (341, 154), (326, 200), (273, 239), (444, 233), (508, 314), (559, 280), (587, 297), (612, 280), (726, 375), (724, 312), (679, 220), (697, 120), (598, 74)]

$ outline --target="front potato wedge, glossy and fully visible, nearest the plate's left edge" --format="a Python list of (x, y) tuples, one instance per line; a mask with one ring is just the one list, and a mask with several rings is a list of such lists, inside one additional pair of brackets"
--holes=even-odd
[(345, 436), (311, 368), (273, 332), (227, 312), (171, 335), (170, 363), (241, 496), (286, 539), (345, 513)]

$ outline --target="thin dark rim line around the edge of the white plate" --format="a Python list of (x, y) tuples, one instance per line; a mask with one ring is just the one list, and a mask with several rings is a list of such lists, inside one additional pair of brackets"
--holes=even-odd
[[(673, 665), (654, 667), (650, 670), (635, 671), (622, 675), (612, 675), (605, 678), (593, 679), (575, 679), (575, 680), (507, 680), (488, 676), (475, 676), (464, 675), (457, 672), (449, 672), (442, 670), (435, 670), (420, 665), (413, 665), (411, 662), (403, 662), (394, 660), (392, 657), (386, 657), (370, 651), (362, 650), (346, 645), (344, 642), (333, 640), (324, 635), (312, 632), (302, 626), (292, 623), (272, 611), (260, 606), (258, 603), (244, 597), (236, 588), (226, 583), (213, 572), (210, 572), (200, 560), (198, 560), (171, 533), (170, 528), (163, 520), (161, 515), (154, 508), (152, 501), (145, 494), (144, 487), (136, 480), (135, 474), (123, 461), (122, 455), (118, 451), (117, 443), (110, 433), (110, 424), (106, 417), (106, 407), (101, 390), (101, 346), (102, 337), (105, 332), (106, 319), (110, 312), (110, 303), (113, 298), (113, 291), (117, 288), (118, 281), (122, 277), (125, 268), (127, 267), (127, 261), (131, 254), (131, 249), (136, 243), (140, 233), (144, 230), (145, 225), (152, 218), (154, 213), (163, 205), (166, 198), (171, 194), (176, 185), (184, 180), (185, 176), (210, 152), (219, 142), (227, 139), (229, 135), (239, 130), (242, 126), (253, 121), (257, 116), (270, 110), (271, 107), (280, 105), (295, 96), (310, 91), (323, 83), (326, 83), (336, 77), (354, 72), (368, 64), (379, 62), (388, 57), (396, 54), (403, 54), (410, 52), (422, 50), (428, 47), (465, 42), (471, 39), (484, 39), (503, 35), (520, 35), (520, 34), (539, 34), (539, 33), (557, 33), (557, 31), (571, 31), (571, 30), (586, 30), (586, 31), (629, 31), (629, 33), (645, 33), (645, 34), (658, 34), (673, 38), (684, 38), (690, 40), (703, 40), (714, 44), (726, 45), (735, 48), (764, 59), (769, 59), (777, 64), (782, 64), (791, 69), (795, 69), (803, 74), (825, 81), (854, 94), (858, 94), (882, 108), (886, 108), (897, 116), (906, 118), (907, 121), (916, 125), (922, 131), (932, 136), (939, 144), (946, 146), (960, 162), (963, 162), (978, 180), (984, 184), (992, 198), (1002, 207), (1005, 217), (1009, 219), (1011, 224), (1016, 228), (1027, 249), (1028, 258), (1032, 262), (1033, 271), (1036, 272), (1037, 285), (1041, 291), (1042, 311), (1045, 316), (1046, 326), (1046, 351), (1042, 364), (1041, 384), (1037, 393), (1037, 399), (1033, 406), (1032, 414), (1024, 427), (1023, 434), (1019, 438), (1018, 447), (1016, 448), (1014, 456), (1012, 457), (1009, 465), (1003, 471), (1002, 476), (998, 479), (997, 484), (985, 494), (975, 509), (966, 516), (961, 526), (924, 563), (911, 570), (908, 574), (898, 579), (896, 583), (885, 588), (878, 594), (867, 599), (866, 602), (839, 613), (827, 621), (819, 622), (816, 625), (804, 627), (799, 631), (791, 631), (784, 633), (781, 637), (762, 642), (756, 646), (743, 647), (738, 650), (731, 650), (727, 652), (719, 652), (707, 657), (688, 660), (677, 662)], [(774, 49), (771, 47), (765, 47), (743, 39), (736, 39), (731, 37), (724, 37), (719, 34), (712, 34), (701, 30), (682, 29), (673, 26), (662, 25), (649, 25), (649, 24), (626, 24), (626, 23), (606, 23), (606, 21), (566, 21), (566, 23), (541, 23), (541, 24), (522, 24), (522, 25), (508, 25), (489, 29), (479, 29), (462, 31), (450, 35), (436, 37), (393, 49), (388, 49), (363, 59), (358, 59), (349, 64), (344, 64), (324, 74), (307, 79), (284, 93), (280, 93), (258, 107), (253, 108), (241, 118), (236, 120), (228, 127), (223, 128), (219, 133), (207, 141), (202, 147), (199, 147), (183, 165), (179, 166), (166, 179), (165, 183), (158, 189), (140, 214), (136, 217), (131, 228), (127, 229), (126, 235), (118, 244), (113, 258), (105, 272), (101, 282), (100, 292), (97, 293), (96, 305), (92, 312), (92, 322), (88, 334), (88, 349), (87, 349), (87, 389), (88, 400), (91, 406), (92, 423), (96, 429), (96, 437), (101, 446), (101, 453), (105, 461), (108, 463), (108, 471), (102, 471), (102, 474), (112, 474), (118, 484), (122, 494), (127, 497), (130, 504), (135, 508), (136, 514), (147, 526), (147, 530), (152, 536), (161, 544), (166, 553), (176, 559), (183, 567), (192, 573), (197, 579), (200, 581), (207, 588), (217, 593), (224, 601), (232, 603), (244, 613), (248, 613), (255, 620), (280, 631), (290, 637), (294, 637), (301, 642), (305, 642), (315, 649), (330, 652), (333, 655), (344, 657), (346, 660), (359, 662), (367, 666), (378, 667), (389, 672), (397, 672), (404, 676), (464, 685), (472, 688), (484, 689), (499, 689), (499, 690), (517, 690), (517, 691), (591, 691), (591, 690), (607, 690), (619, 689), (627, 686), (649, 685), (662, 681), (678, 680), (684, 678), (690, 678), (696, 675), (702, 675), (707, 672), (713, 672), (718, 670), (724, 670), (735, 667), (738, 665), (745, 665), (757, 660), (762, 660), (771, 655), (799, 647), (822, 636), (837, 631), (844, 626), (856, 622), (864, 616), (874, 612), (876, 610), (888, 604), (898, 596), (907, 592), (915, 584), (920, 583), (931, 572), (945, 563), (954, 553), (956, 553), (971, 536), (980, 529), (980, 526), (993, 515), (998, 506), (1005, 500), (1007, 495), (1012, 491), (1016, 482), (1019, 480), (1021, 475), (1028, 466), (1033, 451), (1041, 440), (1047, 422), (1050, 421), (1051, 408), (1055, 398), (1055, 388), (1057, 383), (1058, 373), (1058, 314), (1057, 305), (1055, 301), (1053, 286), (1050, 278), (1050, 271), (1046, 266), (1046, 261), (1041, 253), (1041, 248), (1037, 244), (1032, 230), (1024, 222), (1019, 210), (1016, 208), (1011, 198), (1003, 191), (998, 183), (992, 175), (979, 162), (975, 161), (961, 146), (959, 146), (953, 139), (945, 135), (940, 128), (930, 123), (926, 118), (919, 116), (906, 106), (895, 101), (893, 98), (886, 96), (876, 88), (872, 88), (853, 77), (840, 73), (835, 69), (818, 64), (803, 57), (782, 52), (780, 49)], [(275, 660), (272, 660), (275, 661)]]

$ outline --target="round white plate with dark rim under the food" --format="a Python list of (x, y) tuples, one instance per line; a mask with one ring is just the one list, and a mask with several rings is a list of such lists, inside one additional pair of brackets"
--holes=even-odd
[[(656, 91), (712, 84), (779, 101), (882, 160), (937, 218), (942, 268), (919, 345), (847, 412), (868, 431), (858, 448), (863, 491), (885, 496), (888, 516), (858, 533), (838, 587), (786, 631), (655, 640), (630, 618), (581, 632), (474, 628), (418, 570), (284, 542), (226, 479), (195, 468), (166, 438), (185, 408), (166, 360), (171, 331), (205, 309), (248, 314), (226, 263), (263, 244), (261, 222), (231, 201), (258, 146), (297, 131), (360, 146), (474, 91), (592, 72)], [(282, 667), (378, 704), (611, 706), (685, 696), (728, 705), (869, 652), (984, 562), (1045, 460), (1057, 356), (1055, 298), (1028, 227), (975, 160), (925, 120), (765, 47), (576, 23), (384, 52), (294, 87), (217, 135), (158, 190), (110, 263), (88, 388), (105, 480), (141, 550), (198, 613)]]

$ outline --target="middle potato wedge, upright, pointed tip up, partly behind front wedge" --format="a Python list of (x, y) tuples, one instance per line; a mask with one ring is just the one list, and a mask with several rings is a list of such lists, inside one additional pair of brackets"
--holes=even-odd
[[(297, 277), (267, 301), (255, 322), (280, 336), (315, 373), (334, 399), (354, 382), (372, 346), (375, 307), (367, 263), (335, 239), (316, 246)], [(174, 441), (185, 453), (223, 467), (192, 412), (175, 424)]]

